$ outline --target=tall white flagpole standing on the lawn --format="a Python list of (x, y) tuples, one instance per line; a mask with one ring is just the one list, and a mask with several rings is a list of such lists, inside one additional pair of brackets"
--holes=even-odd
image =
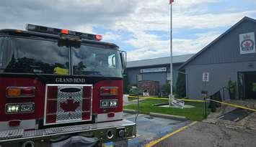
[(170, 0), (170, 25), (169, 25), (169, 29), (170, 29), (170, 40), (169, 40), (169, 51), (170, 51), (170, 64), (169, 64), (169, 69), (170, 69), (170, 73), (169, 73), (169, 77), (170, 77), (170, 97), (169, 97), (169, 107), (171, 106), (171, 99), (173, 98), (173, 93), (172, 93), (172, 2), (173, 0)]

